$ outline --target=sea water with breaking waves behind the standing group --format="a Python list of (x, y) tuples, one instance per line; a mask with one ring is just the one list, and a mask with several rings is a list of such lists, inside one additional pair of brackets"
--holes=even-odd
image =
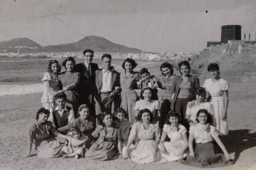
[[(56, 58), (59, 64), (64, 61), (63, 58)], [(76, 64), (83, 62), (83, 58), (75, 58)], [(120, 72), (124, 59), (112, 59), (112, 65), (115, 70)], [(166, 61), (147, 61), (135, 59), (138, 66), (134, 71), (140, 71), (141, 68), (148, 68), (151, 75), (160, 75), (160, 65)], [(43, 74), (47, 70), (49, 59), (47, 58), (0, 58), (0, 96), (22, 95), (36, 92), (43, 92)], [(100, 58), (93, 58), (93, 62), (102, 68)], [(62, 71), (65, 68), (62, 67)]]

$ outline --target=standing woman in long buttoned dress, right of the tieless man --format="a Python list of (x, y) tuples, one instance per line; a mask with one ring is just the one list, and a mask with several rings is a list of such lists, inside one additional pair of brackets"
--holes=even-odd
[(134, 89), (138, 89), (137, 81), (140, 80), (140, 75), (138, 72), (133, 71), (133, 69), (138, 64), (131, 58), (124, 60), (122, 68), (124, 71), (120, 74), (120, 84), (121, 84), (121, 108), (124, 108), (128, 114), (128, 120), (132, 123), (136, 122), (134, 106), (136, 101), (139, 100), (139, 96)]

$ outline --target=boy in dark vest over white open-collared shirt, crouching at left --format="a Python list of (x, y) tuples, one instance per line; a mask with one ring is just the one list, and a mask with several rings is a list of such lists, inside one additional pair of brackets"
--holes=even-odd
[(73, 109), (66, 106), (66, 94), (63, 92), (55, 95), (57, 107), (50, 109), (49, 121), (59, 130), (60, 133), (66, 134), (72, 128), (72, 122), (75, 119)]

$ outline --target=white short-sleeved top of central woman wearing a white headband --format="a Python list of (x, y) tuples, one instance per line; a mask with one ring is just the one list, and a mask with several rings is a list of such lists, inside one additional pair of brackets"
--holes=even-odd
[(147, 101), (144, 100), (137, 101), (134, 110), (142, 109), (149, 109), (153, 113), (153, 122), (157, 122), (157, 110), (160, 110), (159, 101), (151, 100), (150, 103), (147, 103)]

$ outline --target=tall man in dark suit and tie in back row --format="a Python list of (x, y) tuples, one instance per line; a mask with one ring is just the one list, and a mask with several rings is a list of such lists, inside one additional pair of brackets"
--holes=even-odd
[(83, 51), (85, 61), (76, 64), (75, 70), (81, 74), (78, 85), (80, 105), (86, 104), (90, 108), (90, 116), (95, 117), (95, 102), (93, 99), (93, 87), (95, 87), (95, 71), (99, 69), (98, 64), (92, 63), (94, 52), (91, 49)]

